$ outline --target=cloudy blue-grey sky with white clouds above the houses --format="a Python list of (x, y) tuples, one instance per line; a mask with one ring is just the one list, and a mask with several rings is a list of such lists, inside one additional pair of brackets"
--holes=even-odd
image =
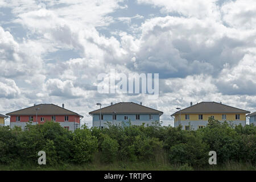
[[(0, 113), (110, 102), (161, 110), (216, 101), (256, 111), (255, 0), (0, 0)], [(159, 98), (100, 94), (97, 76), (159, 73)]]

